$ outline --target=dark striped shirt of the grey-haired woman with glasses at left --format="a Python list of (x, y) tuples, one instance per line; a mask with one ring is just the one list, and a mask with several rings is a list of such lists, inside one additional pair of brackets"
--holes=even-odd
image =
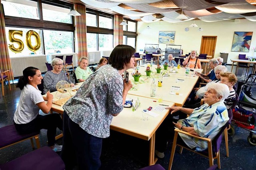
[(72, 83), (72, 81), (68, 79), (65, 72), (63, 71), (61, 71), (60, 74), (56, 74), (52, 71), (46, 72), (46, 74), (44, 75), (44, 90), (50, 89), (50, 92), (57, 91), (56, 84), (61, 80), (65, 80), (70, 84)]

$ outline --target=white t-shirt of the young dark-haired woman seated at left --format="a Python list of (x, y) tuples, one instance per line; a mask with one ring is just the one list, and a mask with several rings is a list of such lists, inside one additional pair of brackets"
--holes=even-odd
[(19, 105), (14, 113), (14, 122), (24, 124), (34, 120), (40, 110), (36, 104), (40, 102), (44, 102), (41, 91), (30, 84), (24, 86), (20, 94)]

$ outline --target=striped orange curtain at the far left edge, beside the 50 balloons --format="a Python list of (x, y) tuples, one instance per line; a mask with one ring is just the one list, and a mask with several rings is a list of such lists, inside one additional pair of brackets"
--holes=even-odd
[(10, 70), (10, 79), (14, 80), (12, 72), (12, 64), (9, 56), (7, 40), (5, 36), (5, 23), (4, 23), (4, 12), (0, 0), (0, 70)]

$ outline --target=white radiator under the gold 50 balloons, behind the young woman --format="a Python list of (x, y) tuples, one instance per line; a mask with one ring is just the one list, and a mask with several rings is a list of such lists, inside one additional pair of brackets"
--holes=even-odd
[(38, 68), (41, 72), (46, 72), (46, 55), (28, 55), (20, 57), (10, 57), (14, 77), (22, 76), (22, 71), (28, 66)]

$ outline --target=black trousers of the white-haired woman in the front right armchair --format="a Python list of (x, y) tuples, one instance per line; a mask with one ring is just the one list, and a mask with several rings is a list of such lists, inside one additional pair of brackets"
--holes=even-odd
[[(178, 118), (177, 118), (178, 117)], [(156, 143), (155, 148), (159, 152), (164, 152), (166, 150), (166, 143), (168, 141), (173, 141), (174, 138), (174, 124), (172, 122), (177, 123), (179, 119), (186, 119), (187, 115), (181, 111), (176, 111), (173, 114), (169, 114), (160, 125), (160, 127), (156, 131)], [(184, 147), (187, 147), (186, 143), (181, 139), (178, 135), (177, 143), (180, 143)]]

